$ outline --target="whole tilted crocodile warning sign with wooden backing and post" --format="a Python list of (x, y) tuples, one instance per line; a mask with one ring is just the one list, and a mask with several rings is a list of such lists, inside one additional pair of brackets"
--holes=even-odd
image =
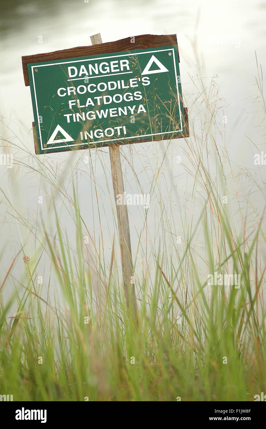
[[(109, 146), (115, 198), (124, 192), (119, 145), (189, 136), (176, 35), (135, 36), (22, 57), (36, 154)], [(41, 120), (40, 120), (41, 118)], [(117, 205), (123, 283), (136, 316), (129, 222)]]

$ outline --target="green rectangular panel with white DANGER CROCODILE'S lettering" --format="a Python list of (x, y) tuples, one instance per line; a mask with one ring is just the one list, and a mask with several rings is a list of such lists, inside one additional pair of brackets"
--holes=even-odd
[(177, 45), (27, 68), (39, 153), (186, 136)]

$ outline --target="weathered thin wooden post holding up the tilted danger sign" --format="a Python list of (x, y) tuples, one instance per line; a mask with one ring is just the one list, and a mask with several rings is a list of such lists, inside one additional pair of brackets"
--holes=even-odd
[[(98, 45), (102, 43), (100, 33), (91, 36), (92, 45)], [(117, 195), (121, 194), (124, 196), (124, 182), (121, 169), (121, 159), (119, 145), (109, 146), (111, 173), (112, 173), (112, 184), (114, 189), (115, 203)], [(127, 302), (127, 308), (132, 308), (134, 311), (135, 318), (137, 317), (137, 305), (136, 305), (136, 293), (135, 285), (131, 281), (133, 279), (133, 262), (131, 254), (131, 243), (130, 243), (130, 229), (128, 221), (127, 205), (116, 204), (118, 231), (121, 249), (121, 262), (123, 272), (123, 284), (124, 293)]]

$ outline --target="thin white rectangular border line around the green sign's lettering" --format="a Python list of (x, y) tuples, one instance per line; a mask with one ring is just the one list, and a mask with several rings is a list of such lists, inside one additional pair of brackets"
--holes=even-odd
[[(182, 124), (182, 115), (181, 115), (181, 109), (180, 109), (180, 98), (179, 98), (179, 91), (178, 91), (178, 82), (177, 82), (177, 70), (176, 70), (176, 65), (175, 65), (175, 55), (174, 55), (174, 48), (169, 48), (169, 49), (160, 49), (159, 51), (146, 51), (146, 52), (137, 52), (136, 54), (121, 54), (121, 55), (111, 55), (109, 57), (100, 57), (100, 58), (87, 58), (85, 60), (75, 60), (75, 61), (64, 61), (62, 63), (52, 63), (52, 64), (40, 64), (38, 66), (32, 66), (31, 70), (32, 70), (32, 76), (33, 76), (33, 88), (34, 88), (34, 94), (35, 94), (35, 103), (36, 103), (36, 111), (37, 111), (37, 116), (38, 116), (38, 127), (39, 127), (39, 134), (40, 134), (40, 141), (41, 141), (41, 150), (44, 150), (43, 145), (42, 145), (42, 139), (41, 139), (41, 124), (39, 121), (39, 112), (38, 112), (38, 103), (37, 103), (37, 95), (36, 95), (36, 89), (35, 89), (35, 81), (34, 81), (34, 73), (33, 73), (33, 69), (35, 69), (36, 67), (47, 67), (47, 66), (58, 66), (60, 64), (73, 64), (73, 63), (84, 63), (85, 61), (96, 61), (96, 60), (104, 60), (106, 58), (117, 58), (117, 57), (129, 57), (130, 55), (141, 55), (141, 54), (153, 54), (155, 52), (166, 52), (166, 51), (173, 51), (173, 60), (174, 60), (174, 74), (175, 74), (175, 81), (176, 81), (176, 85), (177, 85), (177, 98), (178, 98), (178, 107), (179, 107), (179, 117), (180, 117), (180, 131), (183, 131), (183, 124)], [(112, 75), (110, 75), (112, 76)], [(95, 76), (98, 77), (98, 76)], [(84, 78), (86, 79), (86, 78)], [(95, 143), (104, 143), (104, 142), (112, 142), (115, 140), (130, 140), (130, 139), (139, 139), (140, 137), (151, 137), (151, 136), (158, 136), (158, 135), (162, 135), (162, 134), (171, 134), (174, 133), (175, 131), (166, 131), (165, 133), (153, 133), (153, 134), (144, 134), (143, 136), (132, 136), (132, 137), (121, 137), (120, 139), (108, 139), (108, 140), (98, 140), (97, 142), (93, 141), (92, 143), (89, 142), (84, 142), (84, 143), (75, 143), (73, 145), (65, 145), (65, 146), (58, 146), (58, 148), (69, 148), (71, 146), (81, 146), (81, 145), (94, 145)], [(45, 148), (45, 150), (49, 150), (49, 149), (57, 149), (57, 146), (55, 147), (50, 147), (50, 148)]]

